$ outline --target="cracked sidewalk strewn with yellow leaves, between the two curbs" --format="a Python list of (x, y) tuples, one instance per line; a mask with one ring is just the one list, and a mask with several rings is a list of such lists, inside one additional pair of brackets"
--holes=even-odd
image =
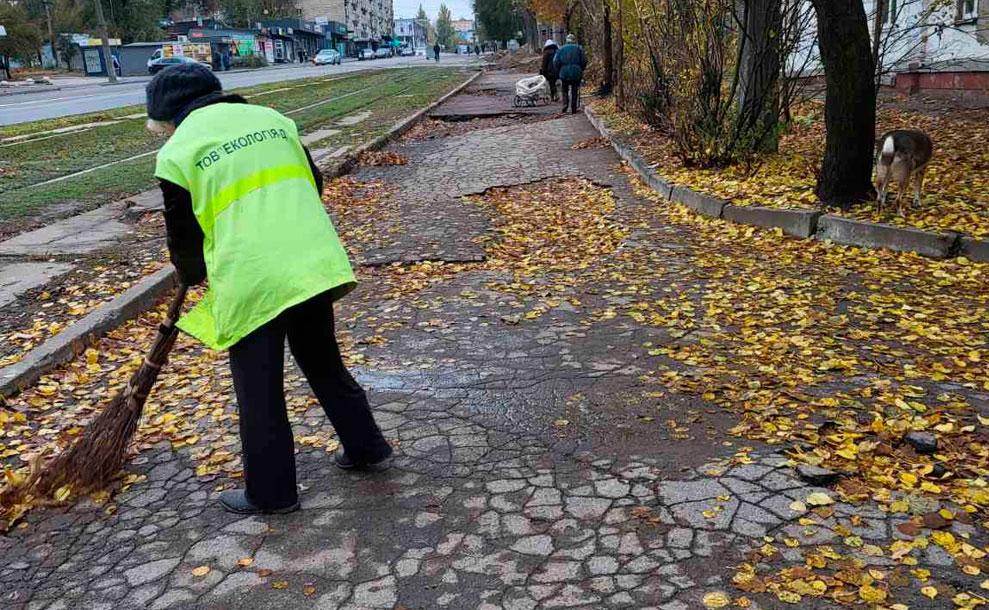
[[(917, 610), (980, 593), (982, 568), (960, 567), (983, 565), (984, 514), (947, 491), (904, 491), (898, 473), (877, 476), (896, 487), (877, 500), (854, 468), (798, 472), (779, 450), (830, 456), (856, 417), (892, 425), (909, 365), (908, 400), (952, 422), (939, 451), (961, 470), (957, 447), (976, 439), (953, 435), (978, 422), (960, 405), (987, 402), (958, 375), (928, 374), (925, 354), (953, 344), (897, 355), (894, 339), (856, 329), (869, 303), (908, 316), (946, 294), (966, 328), (985, 328), (981, 275), (932, 287), (955, 263), (746, 234), (660, 205), (583, 115), (511, 109), (520, 76), (485, 75), (434, 112), (483, 119), (413, 129), (327, 185), (361, 280), (337, 310), (340, 340), (394, 466), (333, 468), (332, 428), (290, 364), (302, 510), (224, 513), (219, 490), (243, 476), (227, 363), (183, 338), (125, 490), (0, 536), (5, 608)], [(74, 425), (62, 411), (106, 396), (113, 354), (138, 353), (155, 323), (101, 341), (99, 375), (80, 380), (93, 364), (80, 359), (18, 397), (63, 406), (12, 425)], [(841, 362), (823, 366), (826, 350)], [(882, 374), (842, 368), (866, 356)], [(838, 444), (815, 444), (828, 435)], [(942, 509), (950, 519), (931, 517)]]

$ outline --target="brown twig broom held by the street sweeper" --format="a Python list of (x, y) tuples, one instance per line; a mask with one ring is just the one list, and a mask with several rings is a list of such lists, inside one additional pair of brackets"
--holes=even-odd
[[(48, 463), (41, 464), (39, 457), (22, 483), (8, 485), (0, 493), (0, 506), (30, 502), (32, 498), (44, 499), (42, 501), (45, 502), (54, 496), (54, 499), (61, 500), (70, 492), (78, 495), (101, 489), (120, 472), (127, 460), (128, 447), (137, 431), (144, 403), (175, 345), (178, 336), (175, 323), (186, 291), (187, 287), (180, 284), (165, 320), (158, 326), (158, 335), (148, 355), (124, 390), (110, 400), (72, 446)], [(59, 493), (63, 489), (65, 491)]]

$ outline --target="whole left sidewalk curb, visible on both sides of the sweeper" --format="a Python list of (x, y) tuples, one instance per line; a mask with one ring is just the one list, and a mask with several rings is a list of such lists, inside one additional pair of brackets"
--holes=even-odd
[[(347, 173), (362, 152), (383, 148), (388, 142), (404, 134), (426, 116), (426, 113), (463, 91), (481, 74), (482, 72), (475, 73), (429, 106), (395, 123), (388, 133), (358, 147), (339, 166), (336, 175)], [(171, 265), (168, 265), (143, 278), (112, 301), (100, 305), (86, 317), (28, 352), (19, 362), (0, 369), (0, 397), (20, 392), (48, 371), (81, 353), (96, 337), (150, 309), (162, 294), (175, 285), (175, 282), (175, 271)]]

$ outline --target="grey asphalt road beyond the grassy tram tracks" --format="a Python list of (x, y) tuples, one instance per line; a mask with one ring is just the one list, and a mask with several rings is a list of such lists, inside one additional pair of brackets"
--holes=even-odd
[[(441, 66), (466, 65), (476, 63), (477, 59), (469, 59), (463, 55), (442, 55)], [(432, 67), (436, 63), (424, 57), (393, 57), (374, 61), (348, 61), (339, 66), (292, 66), (272, 67), (254, 71), (233, 72), (224, 74), (218, 72), (224, 89), (251, 87), (264, 83), (273, 83), (327, 74), (343, 74), (359, 70), (405, 67)], [(143, 104), (144, 87), (147, 77), (126, 78), (117, 85), (108, 85), (103, 79), (93, 79), (92, 84), (82, 84), (72, 87), (62, 87), (60, 90), (43, 93), (0, 98), (0, 125), (13, 125), (42, 119), (53, 119), (74, 114), (85, 114), (109, 110), (121, 106)]]

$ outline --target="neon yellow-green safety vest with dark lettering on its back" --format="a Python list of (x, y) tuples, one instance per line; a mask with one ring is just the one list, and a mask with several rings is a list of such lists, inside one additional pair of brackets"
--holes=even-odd
[(214, 349), (317, 294), (357, 286), (323, 209), (295, 123), (264, 106), (193, 111), (158, 152), (155, 176), (192, 195), (209, 290), (179, 328)]

